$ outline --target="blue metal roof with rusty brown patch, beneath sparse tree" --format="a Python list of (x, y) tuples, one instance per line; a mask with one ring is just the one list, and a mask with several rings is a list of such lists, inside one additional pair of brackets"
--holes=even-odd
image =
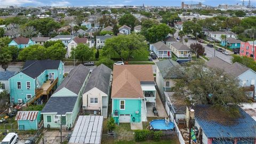
[(238, 107), (240, 117), (225, 118), (214, 112), (211, 106), (197, 105), (195, 120), (207, 138), (252, 138), (255, 137), (256, 121)]

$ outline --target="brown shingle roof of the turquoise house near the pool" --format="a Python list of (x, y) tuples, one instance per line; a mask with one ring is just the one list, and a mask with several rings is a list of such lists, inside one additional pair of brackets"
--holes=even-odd
[(115, 65), (111, 98), (144, 98), (142, 81), (154, 82), (151, 65)]

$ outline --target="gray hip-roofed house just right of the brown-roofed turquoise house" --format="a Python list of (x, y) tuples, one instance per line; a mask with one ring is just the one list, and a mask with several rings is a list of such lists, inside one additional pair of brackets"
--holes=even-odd
[(165, 91), (170, 91), (174, 86), (174, 78), (178, 78), (179, 63), (171, 59), (156, 62), (156, 85), (163, 96)]

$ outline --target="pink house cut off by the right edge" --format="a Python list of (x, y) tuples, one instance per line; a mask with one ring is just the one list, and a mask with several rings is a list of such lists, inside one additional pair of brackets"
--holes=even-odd
[[(254, 49), (253, 49), (253, 45), (254, 45)], [(241, 42), (240, 55), (253, 57), (253, 59), (256, 60), (255, 54), (256, 54), (256, 41), (254, 41), (254, 44), (253, 44), (253, 41)]]

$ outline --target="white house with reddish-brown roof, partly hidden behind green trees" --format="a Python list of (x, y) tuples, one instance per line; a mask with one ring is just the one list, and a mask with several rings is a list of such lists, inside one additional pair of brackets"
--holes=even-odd
[(87, 38), (86, 37), (82, 37), (82, 38), (79, 38), (79, 37), (75, 37), (72, 39), (72, 41), (70, 41), (68, 43), (68, 49), (67, 49), (67, 57), (70, 57), (71, 56), (71, 51), (73, 48), (76, 48), (76, 46), (78, 44), (88, 44), (88, 46), (90, 47), (90, 42), (87, 41)]

